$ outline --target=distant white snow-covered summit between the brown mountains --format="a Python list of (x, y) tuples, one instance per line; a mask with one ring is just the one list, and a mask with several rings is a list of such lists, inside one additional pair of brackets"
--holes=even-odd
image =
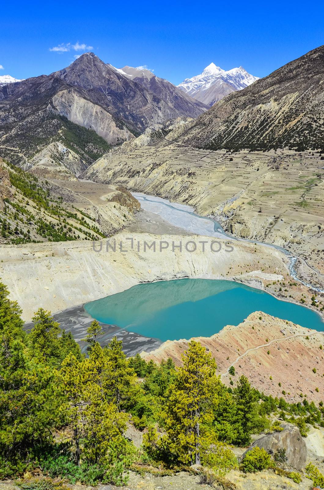
[(203, 73), (186, 78), (178, 87), (192, 98), (211, 106), (231, 92), (251, 85), (258, 78), (248, 73), (242, 66), (226, 72), (214, 63), (210, 63)]

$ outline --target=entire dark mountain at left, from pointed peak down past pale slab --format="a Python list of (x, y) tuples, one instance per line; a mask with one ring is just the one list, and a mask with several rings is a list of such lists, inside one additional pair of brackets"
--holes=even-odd
[(0, 87), (0, 154), (32, 165), (39, 151), (60, 142), (88, 165), (152, 124), (206, 110), (177, 90), (161, 98), (85, 53), (64, 70)]

